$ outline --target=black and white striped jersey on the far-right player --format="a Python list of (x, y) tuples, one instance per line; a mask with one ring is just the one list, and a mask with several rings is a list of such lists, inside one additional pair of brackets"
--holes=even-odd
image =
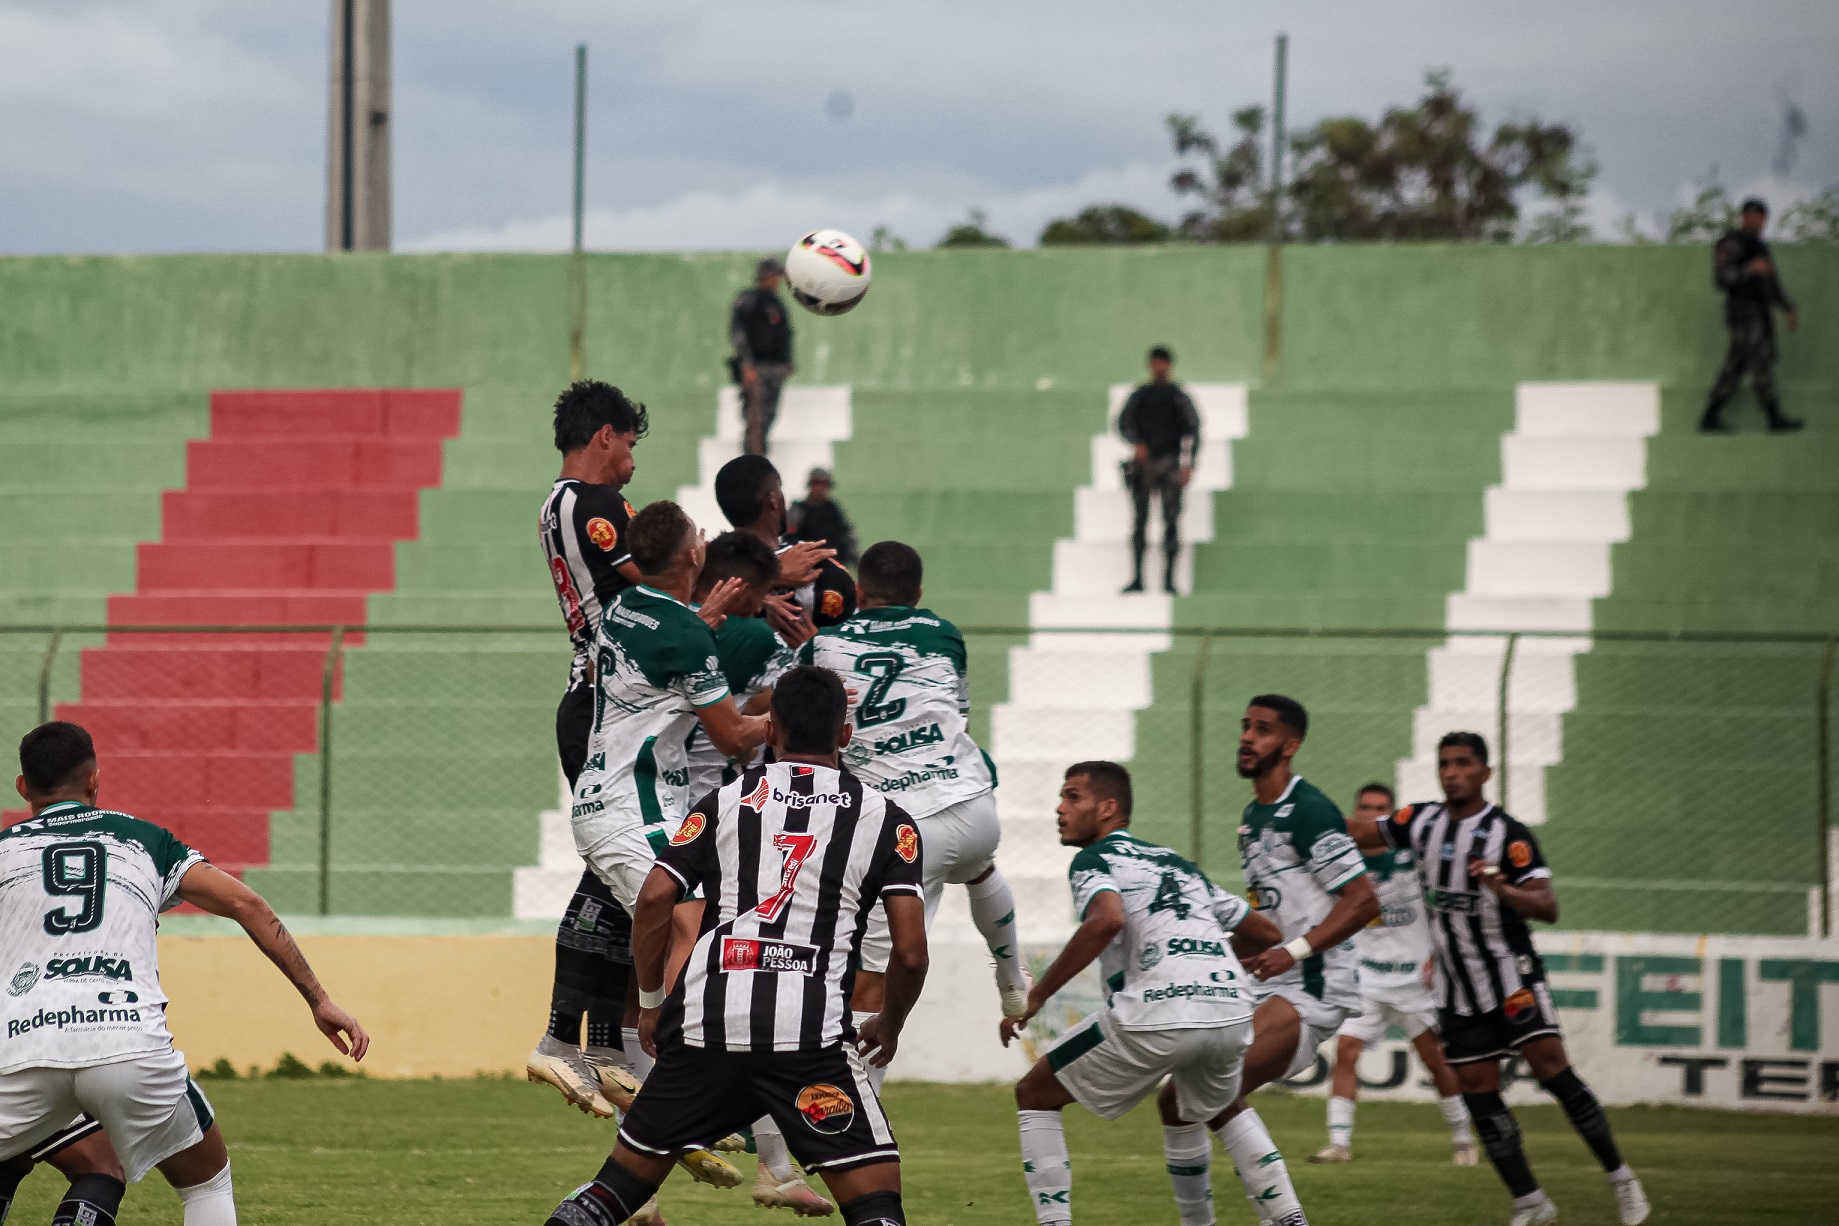
[(1379, 829), (1392, 847), (1418, 860), (1445, 1009), (1464, 1016), (1491, 1013), (1545, 982), (1526, 921), (1471, 871), (1477, 860), (1491, 864), (1512, 886), (1550, 877), (1532, 831), (1497, 805), (1458, 820), (1444, 801), (1407, 805)]

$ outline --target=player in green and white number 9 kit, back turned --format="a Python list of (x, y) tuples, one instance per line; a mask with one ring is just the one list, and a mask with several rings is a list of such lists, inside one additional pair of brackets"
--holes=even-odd
[[(31, 1169), (18, 1160), (88, 1112), (129, 1182), (158, 1167), (186, 1226), (235, 1226), (230, 1152), (166, 1027), (160, 912), (191, 902), (235, 919), (340, 1053), (364, 1059), (370, 1037), (261, 895), (169, 831), (96, 807), (101, 774), (83, 728), (33, 728), (18, 763), (31, 818), (0, 831), (0, 967), (17, 967), (0, 996), (0, 1202)], [(109, 1175), (79, 1175), (55, 1220), (112, 1226), (125, 1191)]]

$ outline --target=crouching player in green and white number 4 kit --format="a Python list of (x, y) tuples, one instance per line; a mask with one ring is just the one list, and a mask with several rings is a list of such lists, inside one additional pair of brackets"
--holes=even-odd
[[(1239, 1097), (1254, 987), (1238, 956), (1278, 939), (1276, 925), (1243, 899), (1217, 890), (1168, 847), (1129, 833), (1131, 776), (1124, 766), (1068, 766), (1057, 818), (1059, 840), (1081, 847), (1068, 869), (1079, 928), (1028, 993), (1024, 1011), (1004, 1018), (1002, 1042), (1008, 1046), (1094, 958), (1107, 1000), (1015, 1086), (1022, 1173), (1043, 1226), (1072, 1222), (1072, 1169), (1059, 1118), (1068, 1103), (1116, 1119), (1168, 1077), (1175, 1108), (1164, 1112), (1164, 1125), (1186, 1129), (1182, 1119), (1208, 1119)], [(1197, 1130), (1205, 1154), (1206, 1129)], [(1201, 1171), (1195, 1182), (1192, 1169), (1170, 1162), (1184, 1222), (1214, 1220), (1205, 1165)], [(1282, 1208), (1282, 1220), (1302, 1222), (1295, 1198)]]

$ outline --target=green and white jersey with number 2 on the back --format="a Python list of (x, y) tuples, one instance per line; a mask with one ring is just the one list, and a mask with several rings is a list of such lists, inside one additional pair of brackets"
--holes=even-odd
[(842, 765), (901, 809), (927, 818), (997, 785), (965, 715), (964, 636), (929, 608), (866, 608), (798, 651), (855, 691), (855, 739)]

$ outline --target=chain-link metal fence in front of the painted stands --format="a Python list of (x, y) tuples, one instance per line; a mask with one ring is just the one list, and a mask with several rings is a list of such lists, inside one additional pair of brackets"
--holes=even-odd
[[(1565, 925), (1824, 934), (1832, 636), (965, 629), (973, 732), (1000, 772), (1004, 871), (1065, 921), (1059, 776), (1109, 757), (1135, 827), (1238, 884), (1245, 700), (1311, 711), (1296, 768), (1344, 807), (1438, 794), (1480, 732)], [(555, 627), (6, 627), (0, 721), (97, 739), (103, 800), (169, 825), (278, 908), (559, 914), (579, 862), (554, 761)], [(15, 811), (17, 816), (17, 811)]]

